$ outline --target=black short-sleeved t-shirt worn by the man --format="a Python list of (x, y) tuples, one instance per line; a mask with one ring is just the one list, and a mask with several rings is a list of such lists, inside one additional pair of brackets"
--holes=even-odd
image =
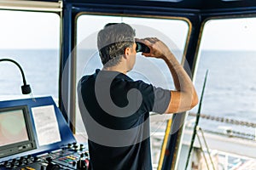
[(149, 111), (166, 111), (170, 91), (116, 71), (96, 70), (81, 78), (78, 94), (90, 168), (152, 169)]

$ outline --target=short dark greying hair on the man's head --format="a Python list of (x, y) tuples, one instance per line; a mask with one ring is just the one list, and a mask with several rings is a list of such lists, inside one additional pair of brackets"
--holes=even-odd
[(135, 31), (125, 23), (108, 23), (99, 31), (97, 46), (105, 67), (119, 64), (125, 48), (132, 47)]

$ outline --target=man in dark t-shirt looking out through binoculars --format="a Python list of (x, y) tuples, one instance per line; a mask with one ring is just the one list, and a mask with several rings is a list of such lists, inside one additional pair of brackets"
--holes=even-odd
[(150, 170), (149, 111), (177, 113), (197, 103), (183, 66), (155, 37), (137, 39), (150, 49), (145, 57), (164, 59), (176, 90), (155, 88), (126, 76), (136, 61), (135, 31), (125, 23), (108, 24), (98, 33), (102, 70), (79, 81), (79, 109), (88, 133), (91, 169)]

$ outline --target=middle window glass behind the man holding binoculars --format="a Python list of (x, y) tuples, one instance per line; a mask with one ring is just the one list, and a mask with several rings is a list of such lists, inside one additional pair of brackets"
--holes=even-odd
[[(82, 14), (77, 21), (77, 46), (76, 46), (76, 86), (79, 79), (87, 74), (93, 74), (96, 69), (102, 69), (102, 63), (97, 51), (96, 36), (107, 23), (125, 22), (131, 25), (138, 38), (159, 37), (165, 42), (179, 61), (183, 58), (186, 39), (189, 34), (189, 24), (185, 20), (172, 18), (152, 19), (140, 17), (106, 16)], [(161, 59), (150, 59), (137, 54), (137, 63), (128, 76), (134, 80), (141, 79), (154, 86), (173, 89), (171, 74)], [(84, 124), (81, 120), (79, 107), (76, 107), (76, 133), (86, 139)], [(151, 139), (154, 165), (158, 164), (160, 148), (166, 130), (166, 122), (170, 115), (151, 114)]]

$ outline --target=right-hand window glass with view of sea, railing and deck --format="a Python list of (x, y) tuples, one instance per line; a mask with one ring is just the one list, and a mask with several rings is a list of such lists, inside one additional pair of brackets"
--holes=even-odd
[[(208, 70), (198, 124), (203, 133), (197, 131), (207, 161), (200, 150), (200, 141), (195, 136), (190, 167), (206, 166), (207, 162), (212, 167), (203, 142), (205, 137), (215, 168), (234, 169), (238, 165), (242, 169), (253, 168), (247, 165), (256, 161), (255, 47), (256, 18), (209, 20), (205, 24), (197, 60), (195, 88), (201, 96)], [(197, 112), (198, 107), (189, 111), (185, 122), (181, 157), (187, 157)], [(184, 162), (179, 162), (178, 169), (183, 169), (184, 165)], [(230, 165), (232, 167), (228, 167)]]

